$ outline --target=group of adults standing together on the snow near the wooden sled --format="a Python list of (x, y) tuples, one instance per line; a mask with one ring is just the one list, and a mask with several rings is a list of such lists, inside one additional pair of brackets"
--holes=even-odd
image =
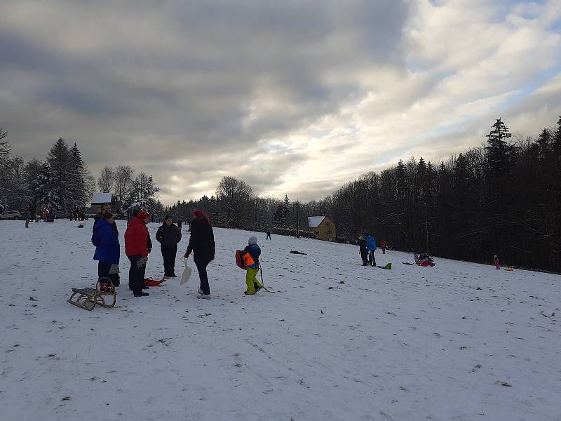
[[(191, 237), (189, 246), (184, 254), (186, 259), (193, 253), (194, 262), (201, 279), (198, 289), (198, 298), (210, 298), (210, 287), (206, 268), (215, 258), (214, 233), (210, 225), (210, 219), (201, 210), (195, 210), (194, 219), (191, 221)], [(133, 214), (128, 221), (125, 232), (125, 253), (130, 262), (128, 271), (128, 286), (135, 297), (149, 295), (143, 291), (144, 278), (149, 254), (152, 249), (150, 234), (147, 224), (151, 216), (144, 210)], [(181, 241), (181, 229), (173, 224), (173, 218), (166, 215), (161, 227), (156, 233), (156, 240), (161, 243), (163, 258), (164, 279), (175, 278), (175, 258), (177, 256), (177, 244)], [(100, 213), (94, 218), (92, 243), (95, 246), (94, 260), (97, 260), (98, 279), (108, 278), (114, 286), (120, 285), (119, 262), (121, 244), (119, 243), (119, 230), (117, 229), (114, 216), (109, 212), (109, 206), (102, 206)], [(100, 281), (100, 287), (104, 285)]]

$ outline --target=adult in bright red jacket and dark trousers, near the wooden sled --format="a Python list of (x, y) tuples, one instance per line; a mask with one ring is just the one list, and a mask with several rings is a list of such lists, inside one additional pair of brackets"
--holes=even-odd
[(148, 293), (142, 292), (144, 274), (148, 262), (148, 228), (150, 214), (140, 210), (135, 218), (128, 222), (125, 232), (125, 253), (130, 260), (128, 271), (128, 284), (135, 297), (145, 297)]

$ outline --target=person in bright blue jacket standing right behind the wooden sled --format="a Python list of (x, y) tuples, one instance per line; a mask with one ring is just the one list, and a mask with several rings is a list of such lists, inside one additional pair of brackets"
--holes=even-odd
[(121, 245), (119, 237), (113, 229), (113, 222), (113, 215), (106, 212), (95, 223), (93, 260), (97, 260), (98, 279), (109, 278), (114, 286), (119, 286), (119, 274), (109, 274), (111, 265), (119, 265), (119, 255), (121, 254)]

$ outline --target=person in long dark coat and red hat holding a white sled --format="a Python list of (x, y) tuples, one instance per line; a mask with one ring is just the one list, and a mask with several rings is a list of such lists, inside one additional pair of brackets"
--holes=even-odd
[(188, 259), (193, 252), (198, 277), (201, 279), (201, 288), (198, 290), (197, 298), (210, 298), (206, 267), (212, 260), (215, 260), (215, 235), (210, 226), (210, 219), (202, 210), (195, 210), (193, 215), (195, 218), (191, 221), (189, 227), (191, 238), (185, 252), (185, 258)]

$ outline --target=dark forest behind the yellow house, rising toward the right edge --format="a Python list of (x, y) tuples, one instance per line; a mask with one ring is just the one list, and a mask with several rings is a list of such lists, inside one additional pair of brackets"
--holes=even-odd
[(561, 117), (537, 138), (513, 137), (498, 119), (484, 145), (438, 163), (399, 161), (308, 203), (260, 197), (224, 177), (215, 195), (166, 208), (189, 218), (201, 208), (221, 227), (306, 230), (330, 215), (340, 241), (369, 232), (398, 250), (456, 260), (561, 272)]

